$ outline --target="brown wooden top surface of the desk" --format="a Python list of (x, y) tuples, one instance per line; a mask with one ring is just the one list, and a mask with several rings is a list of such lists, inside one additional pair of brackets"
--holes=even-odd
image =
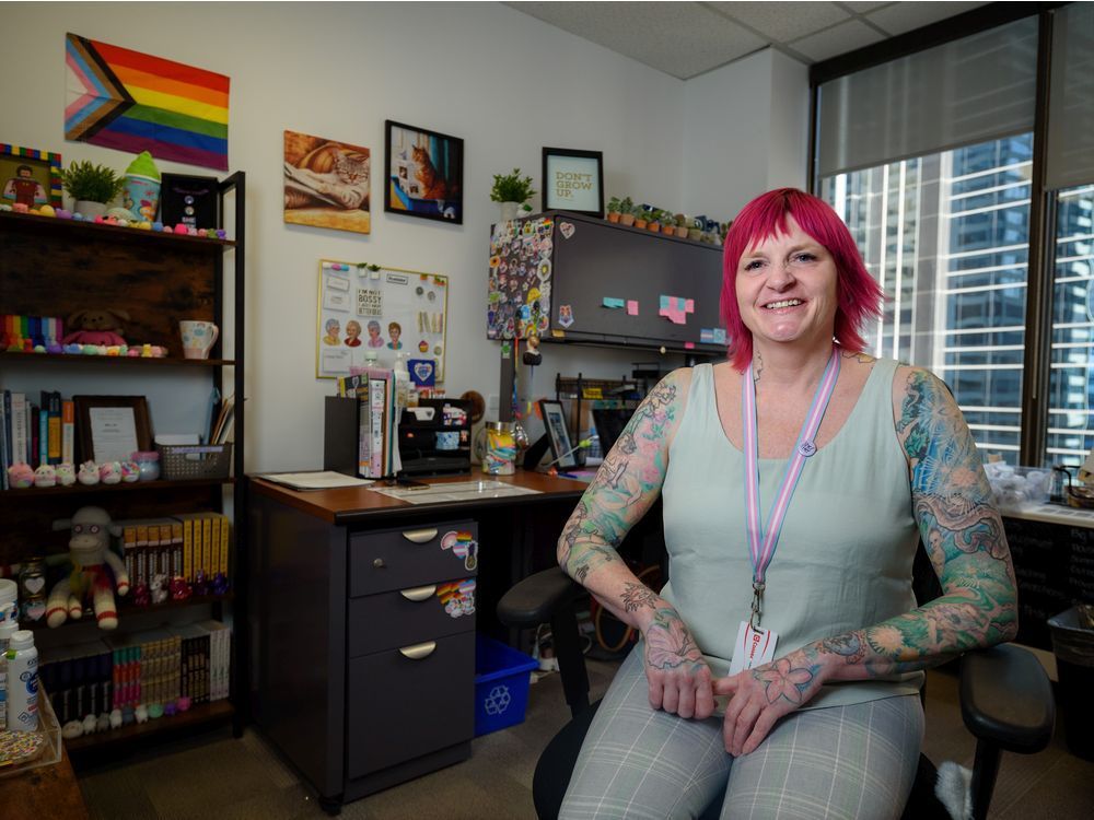
[[(331, 524), (361, 524), (380, 518), (394, 518), (409, 514), (432, 515), (434, 513), (463, 513), (481, 507), (510, 506), (515, 504), (539, 504), (551, 501), (574, 503), (589, 487), (583, 481), (555, 478), (542, 472), (517, 470), (513, 476), (486, 476), (473, 472), (469, 476), (421, 479), (428, 484), (446, 484), (459, 481), (502, 481), (514, 487), (537, 490), (535, 495), (508, 495), (500, 499), (476, 499), (474, 501), (441, 502), (439, 504), (410, 504), (399, 499), (372, 492), (368, 487), (347, 487), (338, 490), (290, 490), (261, 478), (251, 478), (253, 492), (293, 506), (309, 515), (314, 515)], [(382, 487), (382, 485), (381, 485)]]

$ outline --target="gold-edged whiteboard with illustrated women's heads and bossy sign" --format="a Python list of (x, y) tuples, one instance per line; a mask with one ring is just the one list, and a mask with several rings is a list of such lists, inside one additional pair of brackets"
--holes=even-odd
[(447, 277), (322, 259), (316, 377), (348, 376), (373, 355), (376, 366), (394, 367), (403, 353), (407, 361), (432, 361), (442, 382), (447, 308)]

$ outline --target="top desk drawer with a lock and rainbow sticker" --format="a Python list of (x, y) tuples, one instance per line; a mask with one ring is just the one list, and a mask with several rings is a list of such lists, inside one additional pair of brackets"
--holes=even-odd
[(350, 537), (350, 597), (473, 577), (478, 526), (447, 522)]

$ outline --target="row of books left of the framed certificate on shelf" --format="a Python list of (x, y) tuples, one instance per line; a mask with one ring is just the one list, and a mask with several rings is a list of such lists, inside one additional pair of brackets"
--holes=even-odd
[(38, 467), (44, 464), (74, 462), (75, 408), (56, 390), (43, 390), (39, 403), (25, 393), (4, 390), (0, 402), (0, 462), (4, 490), (8, 468), (14, 464)]

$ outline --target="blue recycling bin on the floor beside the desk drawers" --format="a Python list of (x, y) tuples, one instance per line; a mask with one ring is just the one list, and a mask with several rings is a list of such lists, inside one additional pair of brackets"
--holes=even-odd
[(475, 737), (524, 723), (531, 672), (537, 667), (523, 652), (475, 636)]

